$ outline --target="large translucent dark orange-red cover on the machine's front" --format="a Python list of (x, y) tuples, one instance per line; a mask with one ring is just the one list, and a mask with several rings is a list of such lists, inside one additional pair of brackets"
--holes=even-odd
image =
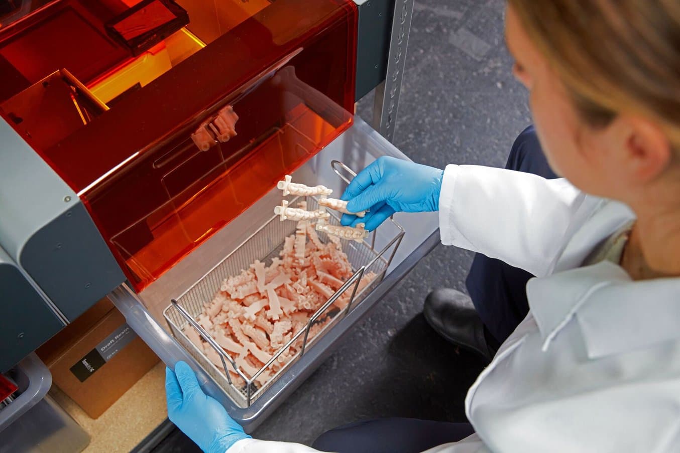
[[(231, 1), (219, 3), (228, 7)], [(241, 0), (233, 1), (242, 12)], [(95, 3), (100, 9), (106, 4), (107, 14), (116, 10), (114, 0), (58, 3), (69, 14)], [(195, 4), (205, 5), (206, 17), (216, 14), (212, 0)], [(351, 0), (276, 0), (256, 10), (232, 29), (218, 29), (211, 41), (199, 35), (209, 41), (205, 47), (192, 33), (175, 33), (165, 41), (171, 69), (154, 69), (154, 79), (130, 89), (126, 86), (134, 77), (122, 74), (135, 60), (110, 58), (120, 48), (109, 52), (105, 46), (73, 43), (69, 52), (74, 55), (60, 58), (79, 68), (81, 76), (74, 75), (98, 93), (103, 81), (121, 77), (120, 86), (102, 96), (122, 94), (109, 110), (69, 130), (58, 143), (36, 145), (14, 124), (79, 194), (138, 291), (352, 123), (356, 5)], [(194, 22), (200, 18), (190, 13), (187, 28), (201, 29)], [(35, 46), (50, 48), (50, 39), (56, 40), (40, 28), (50, 20), (34, 18), (38, 25), (31, 33), (41, 37)], [(101, 18), (96, 22), (99, 31)], [(22, 65), (14, 65), (16, 58), (3, 63), (7, 46), (2, 46), (14, 42), (10, 38), (0, 31), (0, 98), (3, 86), (34, 83)], [(115, 48), (115, 41), (102, 39)], [(46, 50), (40, 52), (32, 68), (56, 64), (51, 56), (42, 57)], [(200, 151), (191, 134), (226, 105), (239, 118), (237, 135)], [(9, 120), (10, 112), (0, 113)]]

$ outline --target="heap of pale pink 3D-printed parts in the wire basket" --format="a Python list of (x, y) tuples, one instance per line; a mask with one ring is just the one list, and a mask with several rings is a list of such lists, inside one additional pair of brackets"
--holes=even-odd
[[(284, 182), (290, 183), (290, 177), (282, 181)], [(279, 183), (279, 188), (283, 189), (281, 185)], [(320, 192), (324, 192), (325, 198), (329, 192), (324, 186), (307, 187), (300, 184), (295, 186), (294, 190), (284, 189), (284, 194), (306, 196), (320, 195)], [(279, 207), (281, 206), (277, 206)], [(286, 209), (292, 210), (287, 208), (286, 203), (283, 209), (276, 211), (282, 220)], [(269, 266), (256, 260), (241, 274), (226, 278), (213, 300), (205, 305), (197, 318), (198, 323), (224, 348), (249, 379), (268, 363), (295, 333), (305, 329), (314, 312), (328, 302), (354, 274), (347, 255), (342, 251), (340, 238), (328, 234), (326, 226), (328, 213), (323, 208), (318, 211), (306, 209), (306, 202), (301, 202), (295, 211), (288, 211), (297, 215), (301, 215), (303, 211), (311, 212), (313, 215), (303, 215), (305, 219), (298, 220), (295, 234), (285, 239), (279, 257), (272, 259)], [(312, 223), (315, 218), (324, 219), (321, 228)], [(327, 243), (320, 240), (317, 230), (328, 235)], [(349, 233), (340, 235), (354, 240), (365, 237), (362, 228), (360, 233), (354, 233), (352, 230), (345, 230)], [(373, 272), (364, 274), (356, 292), (359, 293), (369, 285), (373, 278), (375, 278)], [(312, 325), (309, 331), (310, 340), (330, 322), (332, 319), (330, 313), (338, 312), (333, 308), (342, 310), (347, 306), (353, 289), (354, 285), (350, 285), (333, 306)], [(203, 341), (193, 327), (187, 325), (184, 333), (218, 369), (222, 369), (222, 360), (218, 352)], [(273, 374), (292, 360), (301, 349), (302, 343), (303, 336), (279, 355), (256, 378), (256, 382), (260, 385), (266, 384)], [(231, 369), (231, 365), (226, 363), (232, 382), (242, 388), (245, 382)]]

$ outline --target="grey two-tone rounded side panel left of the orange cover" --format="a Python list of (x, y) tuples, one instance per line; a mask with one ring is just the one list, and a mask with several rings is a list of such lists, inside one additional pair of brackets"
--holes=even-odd
[(122, 270), (78, 195), (3, 120), (0, 162), (0, 246), (73, 321), (124, 282)]

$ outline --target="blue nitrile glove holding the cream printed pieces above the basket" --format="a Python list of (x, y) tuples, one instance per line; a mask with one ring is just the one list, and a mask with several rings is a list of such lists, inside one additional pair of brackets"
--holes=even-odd
[(443, 176), (439, 168), (382, 156), (352, 179), (341, 198), (349, 201), (347, 211), (370, 212), (363, 218), (345, 214), (341, 223), (366, 223), (371, 231), (394, 213), (439, 211)]

